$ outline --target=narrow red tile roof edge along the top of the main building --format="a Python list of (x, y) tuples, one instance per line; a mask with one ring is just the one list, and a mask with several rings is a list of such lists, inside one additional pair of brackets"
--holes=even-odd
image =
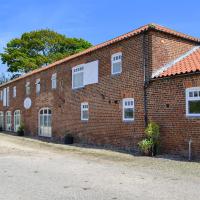
[(198, 39), (198, 38), (191, 37), (189, 35), (186, 35), (186, 34), (183, 34), (183, 33), (180, 33), (180, 32), (174, 31), (174, 30), (171, 30), (169, 28), (166, 28), (166, 27), (163, 27), (163, 26), (160, 26), (160, 25), (157, 25), (157, 24), (153, 24), (153, 23), (152, 24), (147, 24), (147, 25), (142, 26), (142, 27), (140, 27), (138, 29), (135, 29), (135, 30), (133, 30), (131, 32), (123, 34), (123, 35), (121, 35), (119, 37), (116, 37), (114, 39), (108, 40), (108, 41), (106, 41), (104, 43), (101, 43), (99, 45), (96, 45), (96, 46), (93, 46), (91, 48), (88, 48), (85, 51), (82, 51), (80, 53), (77, 53), (77, 54), (74, 54), (72, 56), (68, 56), (68, 57), (66, 57), (64, 59), (58, 60), (58, 61), (56, 61), (56, 62), (54, 62), (54, 63), (52, 63), (52, 64), (50, 64), (48, 66), (41, 67), (39, 69), (33, 70), (32, 72), (29, 72), (29, 73), (27, 73), (27, 74), (25, 74), (23, 76), (20, 76), (19, 78), (16, 78), (14, 80), (11, 80), (11, 81), (9, 81), (7, 83), (4, 83), (4, 84), (0, 85), (0, 87), (2, 87), (4, 85), (7, 85), (7, 84), (9, 84), (11, 82), (23, 79), (25, 77), (31, 76), (32, 74), (35, 74), (35, 73), (47, 70), (48, 68), (54, 67), (56, 65), (59, 65), (59, 64), (64, 63), (66, 61), (72, 60), (72, 59), (77, 58), (79, 56), (88, 54), (88, 53), (93, 52), (93, 51), (95, 51), (97, 49), (100, 49), (100, 48), (106, 47), (108, 45), (111, 45), (113, 43), (116, 43), (116, 42), (122, 41), (124, 39), (130, 38), (130, 37), (132, 37), (134, 35), (138, 35), (138, 34), (144, 32), (144, 31), (147, 31), (147, 30), (150, 30), (150, 29), (161, 31), (161, 32), (164, 32), (164, 33), (168, 33), (168, 34), (171, 34), (171, 35), (174, 35), (174, 36), (177, 36), (177, 37), (184, 38), (186, 40), (191, 40), (191, 41), (194, 41), (194, 42), (200, 42), (200, 39)]

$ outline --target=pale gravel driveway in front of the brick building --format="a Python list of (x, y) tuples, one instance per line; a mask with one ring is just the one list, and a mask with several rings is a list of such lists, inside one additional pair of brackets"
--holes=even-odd
[(0, 134), (1, 200), (199, 200), (200, 163)]

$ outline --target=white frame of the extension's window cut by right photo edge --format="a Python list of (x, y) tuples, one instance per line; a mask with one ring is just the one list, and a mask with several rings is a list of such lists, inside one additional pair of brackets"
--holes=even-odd
[[(197, 97), (190, 97), (190, 92), (195, 92), (197, 91)], [(200, 87), (192, 87), (192, 88), (187, 88), (186, 89), (186, 116), (188, 117), (200, 117), (200, 113), (189, 113), (189, 102), (190, 101), (200, 101)], [(194, 93), (193, 93), (194, 95)]]

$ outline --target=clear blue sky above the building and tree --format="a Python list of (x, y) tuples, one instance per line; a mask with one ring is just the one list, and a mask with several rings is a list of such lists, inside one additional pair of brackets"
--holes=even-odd
[(152, 22), (200, 37), (198, 0), (0, 0), (0, 8), (0, 52), (10, 39), (42, 28), (94, 45)]

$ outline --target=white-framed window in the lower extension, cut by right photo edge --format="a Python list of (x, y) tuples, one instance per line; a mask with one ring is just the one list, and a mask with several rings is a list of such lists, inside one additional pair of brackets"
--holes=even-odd
[(186, 89), (186, 115), (200, 117), (200, 87)]

